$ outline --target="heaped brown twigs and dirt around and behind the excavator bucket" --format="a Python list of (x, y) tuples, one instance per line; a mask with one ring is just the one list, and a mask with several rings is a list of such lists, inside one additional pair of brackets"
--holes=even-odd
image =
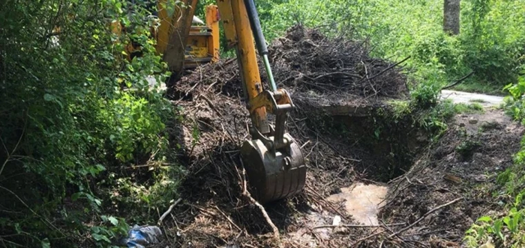
[[(309, 238), (296, 235), (299, 229), (309, 229), (306, 224), (331, 224), (334, 215), (352, 223), (349, 214), (325, 198), (351, 185), (356, 176), (363, 177), (368, 168), (374, 171), (376, 154), (343, 139), (341, 128), (345, 127), (333, 125), (333, 117), (316, 111), (315, 106), (381, 105), (384, 99), (403, 99), (408, 92), (405, 76), (395, 63), (371, 58), (364, 42), (329, 39), (300, 25), (272, 43), (269, 51), (276, 81), (296, 103), (287, 130), (306, 158), (305, 191), (265, 205), (270, 221), (254, 205), (245, 191), (238, 152), (249, 138), (250, 125), (238, 65), (233, 59), (204, 65), (170, 90), (182, 117), (169, 127), (171, 143), (180, 152), (187, 176), (180, 187), (184, 204), (173, 211), (173, 222), (166, 221), (171, 223), (171, 238), (162, 245), (274, 247), (271, 223), (285, 234), (278, 242), (294, 246), (311, 242), (341, 246), (367, 233), (347, 229), (331, 241), (312, 230)], [(313, 221), (312, 216), (320, 217)]]

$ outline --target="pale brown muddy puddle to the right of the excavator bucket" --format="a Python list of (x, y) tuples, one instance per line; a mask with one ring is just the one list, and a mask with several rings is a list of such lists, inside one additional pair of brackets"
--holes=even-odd
[(341, 188), (341, 193), (333, 194), (327, 200), (332, 203), (343, 203), (348, 214), (352, 215), (356, 222), (363, 225), (379, 225), (377, 214), (383, 199), (388, 192), (388, 187), (383, 185), (364, 185), (356, 183), (350, 187)]

